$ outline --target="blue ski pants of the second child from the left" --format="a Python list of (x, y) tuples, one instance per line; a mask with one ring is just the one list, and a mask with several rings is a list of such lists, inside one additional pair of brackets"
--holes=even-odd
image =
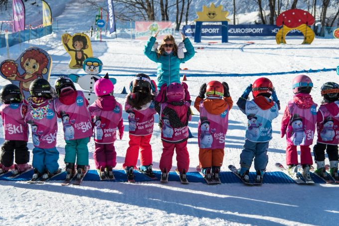
[(54, 148), (33, 148), (32, 166), (36, 168), (39, 173), (45, 173), (48, 170), (54, 173), (59, 169), (58, 159), (59, 152)]

